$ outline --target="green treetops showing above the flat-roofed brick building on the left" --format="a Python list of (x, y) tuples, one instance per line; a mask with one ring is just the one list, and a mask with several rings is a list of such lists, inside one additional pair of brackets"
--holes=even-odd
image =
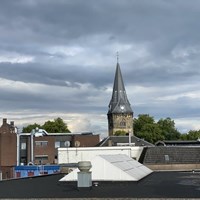
[(56, 118), (54, 121), (46, 121), (42, 126), (39, 124), (28, 125), (23, 127), (23, 133), (30, 133), (36, 127), (46, 130), (48, 133), (70, 133), (67, 124), (61, 118)]

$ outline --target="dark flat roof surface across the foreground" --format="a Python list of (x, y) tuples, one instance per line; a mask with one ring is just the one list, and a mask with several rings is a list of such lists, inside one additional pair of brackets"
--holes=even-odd
[(98, 182), (90, 189), (77, 189), (77, 182), (59, 182), (64, 174), (0, 182), (0, 198), (200, 198), (199, 172), (153, 172), (139, 182)]

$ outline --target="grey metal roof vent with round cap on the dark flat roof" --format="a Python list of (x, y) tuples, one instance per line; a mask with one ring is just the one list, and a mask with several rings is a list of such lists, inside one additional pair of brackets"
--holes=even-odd
[(90, 161), (81, 161), (78, 162), (78, 189), (88, 189), (92, 187), (92, 172), (89, 170), (91, 169), (92, 165)]

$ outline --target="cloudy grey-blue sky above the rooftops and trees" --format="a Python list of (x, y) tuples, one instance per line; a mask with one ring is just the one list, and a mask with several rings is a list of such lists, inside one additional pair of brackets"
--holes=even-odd
[(116, 52), (134, 112), (200, 129), (199, 0), (1, 0), (0, 120), (107, 136)]

